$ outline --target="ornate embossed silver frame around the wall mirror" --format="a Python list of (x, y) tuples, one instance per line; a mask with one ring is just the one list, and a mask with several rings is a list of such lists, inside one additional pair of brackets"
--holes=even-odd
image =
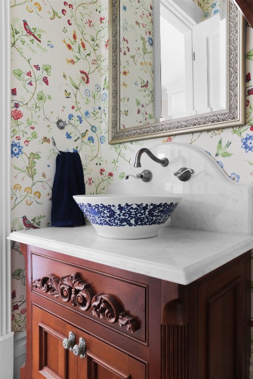
[(120, 129), (120, 0), (110, 0), (109, 144), (194, 133), (245, 124), (244, 17), (227, 0), (227, 109), (138, 127)]

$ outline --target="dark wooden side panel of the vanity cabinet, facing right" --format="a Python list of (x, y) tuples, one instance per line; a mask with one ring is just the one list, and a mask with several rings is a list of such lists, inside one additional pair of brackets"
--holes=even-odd
[(246, 378), (245, 286), (243, 260), (199, 283), (198, 379)]

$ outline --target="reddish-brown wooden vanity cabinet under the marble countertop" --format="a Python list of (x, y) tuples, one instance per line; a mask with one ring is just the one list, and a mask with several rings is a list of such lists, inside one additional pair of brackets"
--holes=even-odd
[(21, 379), (246, 379), (250, 252), (183, 286), (21, 244)]

